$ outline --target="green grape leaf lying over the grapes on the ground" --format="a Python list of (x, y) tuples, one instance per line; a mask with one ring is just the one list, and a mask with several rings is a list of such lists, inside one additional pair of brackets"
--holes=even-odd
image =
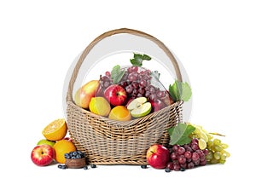
[(192, 125), (178, 123), (175, 127), (168, 129), (170, 145), (184, 145), (191, 141), (189, 135), (195, 130)]

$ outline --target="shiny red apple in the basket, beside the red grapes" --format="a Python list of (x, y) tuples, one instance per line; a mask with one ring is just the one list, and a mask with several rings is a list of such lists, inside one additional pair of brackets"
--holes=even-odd
[(125, 89), (118, 84), (108, 86), (108, 88), (105, 89), (104, 95), (109, 103), (114, 107), (124, 105), (127, 99)]

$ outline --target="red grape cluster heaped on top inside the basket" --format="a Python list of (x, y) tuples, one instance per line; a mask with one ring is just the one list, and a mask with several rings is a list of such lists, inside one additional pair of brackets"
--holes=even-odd
[[(152, 105), (152, 112), (157, 112), (173, 103), (168, 91), (154, 77), (154, 72), (139, 66), (128, 66), (123, 70), (125, 72), (117, 84), (125, 89), (126, 106), (138, 97), (147, 98)], [(151, 83), (152, 78), (158, 82)], [(102, 95), (111, 85), (113, 85), (113, 76), (111, 72), (105, 72), (105, 76), (101, 77), (101, 88), (96, 95)]]

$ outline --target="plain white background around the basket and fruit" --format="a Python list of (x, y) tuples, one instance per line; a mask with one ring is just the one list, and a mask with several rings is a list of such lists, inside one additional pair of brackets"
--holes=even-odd
[[(256, 29), (253, 1), (1, 1), (1, 186), (6, 189), (252, 189), (255, 171)], [(190, 121), (225, 134), (224, 165), (185, 172), (99, 166), (37, 167), (41, 131), (63, 117), (62, 88), (74, 58), (95, 37), (128, 27), (158, 37), (189, 73)], [(233, 186), (233, 187), (234, 187)]]

